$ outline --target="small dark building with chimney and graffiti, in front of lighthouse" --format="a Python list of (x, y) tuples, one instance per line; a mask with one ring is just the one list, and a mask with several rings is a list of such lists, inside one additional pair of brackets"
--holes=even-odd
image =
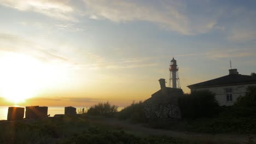
[(161, 89), (143, 103), (145, 116), (147, 118), (180, 119), (178, 97), (183, 94), (182, 89), (166, 87), (165, 79), (160, 79), (159, 83)]

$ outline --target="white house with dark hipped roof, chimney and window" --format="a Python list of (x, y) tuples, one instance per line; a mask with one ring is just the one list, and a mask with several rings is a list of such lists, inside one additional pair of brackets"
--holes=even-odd
[(238, 74), (230, 69), (229, 75), (188, 86), (191, 92), (210, 91), (216, 94), (219, 105), (233, 105), (237, 98), (246, 94), (248, 86), (256, 86), (256, 77)]

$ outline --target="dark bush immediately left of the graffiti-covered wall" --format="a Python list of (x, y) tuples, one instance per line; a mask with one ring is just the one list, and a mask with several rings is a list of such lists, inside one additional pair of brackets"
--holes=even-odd
[(131, 105), (125, 107), (118, 113), (119, 119), (129, 119), (132, 122), (147, 122), (148, 119), (145, 117), (143, 111), (143, 102), (139, 101), (138, 103), (132, 102)]

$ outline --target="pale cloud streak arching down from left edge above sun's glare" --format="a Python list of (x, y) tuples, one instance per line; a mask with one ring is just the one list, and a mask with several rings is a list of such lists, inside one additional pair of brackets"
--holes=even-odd
[(0, 33), (0, 42), (0, 54), (1, 52), (14, 52), (31, 56), (45, 63), (60, 62), (69, 65), (69, 67), (78, 67), (77, 62), (72, 60), (71, 56), (37, 43), (33, 39), (11, 33)]

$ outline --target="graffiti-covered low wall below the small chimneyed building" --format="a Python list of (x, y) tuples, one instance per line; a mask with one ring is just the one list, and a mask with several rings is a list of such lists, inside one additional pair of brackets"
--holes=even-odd
[(147, 118), (181, 118), (181, 111), (177, 105), (172, 104), (152, 104), (144, 106), (145, 116)]

